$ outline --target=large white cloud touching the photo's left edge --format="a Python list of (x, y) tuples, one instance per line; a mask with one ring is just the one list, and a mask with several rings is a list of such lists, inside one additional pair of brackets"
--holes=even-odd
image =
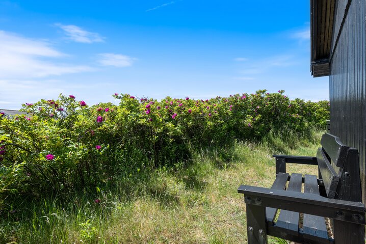
[(66, 55), (44, 40), (33, 40), (0, 31), (0, 78), (33, 78), (90, 71), (84, 65), (50, 62)]

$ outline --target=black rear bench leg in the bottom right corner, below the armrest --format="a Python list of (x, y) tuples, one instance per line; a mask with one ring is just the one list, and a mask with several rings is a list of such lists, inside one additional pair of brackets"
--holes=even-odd
[(334, 242), (336, 244), (364, 244), (364, 225), (333, 220)]

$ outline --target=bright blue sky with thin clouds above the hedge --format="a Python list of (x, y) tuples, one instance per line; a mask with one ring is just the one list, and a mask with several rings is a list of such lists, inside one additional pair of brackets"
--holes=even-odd
[(60, 93), (328, 99), (309, 38), (308, 1), (0, 0), (0, 108)]

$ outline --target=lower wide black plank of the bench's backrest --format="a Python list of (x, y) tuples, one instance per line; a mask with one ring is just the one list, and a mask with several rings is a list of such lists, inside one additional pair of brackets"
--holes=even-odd
[(318, 149), (317, 159), (318, 159), (319, 171), (323, 178), (327, 197), (334, 198), (337, 191), (339, 177), (335, 173), (333, 167), (330, 165), (330, 162), (326, 157), (322, 148)]

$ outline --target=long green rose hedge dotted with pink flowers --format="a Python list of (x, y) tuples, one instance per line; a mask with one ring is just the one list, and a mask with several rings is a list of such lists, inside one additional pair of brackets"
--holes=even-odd
[(290, 100), (283, 92), (161, 101), (116, 93), (119, 105), (93, 106), (60, 95), (25, 103), (27, 116), (0, 115), (0, 194), (88, 191), (147, 164), (189, 158), (192, 148), (325, 128), (328, 101)]

